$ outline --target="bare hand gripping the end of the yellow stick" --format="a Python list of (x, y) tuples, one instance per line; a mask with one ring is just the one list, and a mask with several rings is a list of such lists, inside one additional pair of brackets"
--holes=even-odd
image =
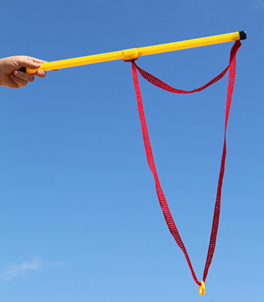
[(25, 87), (28, 82), (34, 81), (34, 76), (44, 78), (46, 72), (39, 69), (34, 75), (20, 71), (22, 67), (37, 69), (41, 63), (46, 61), (32, 58), (29, 56), (11, 56), (0, 59), (0, 86), (10, 88)]

